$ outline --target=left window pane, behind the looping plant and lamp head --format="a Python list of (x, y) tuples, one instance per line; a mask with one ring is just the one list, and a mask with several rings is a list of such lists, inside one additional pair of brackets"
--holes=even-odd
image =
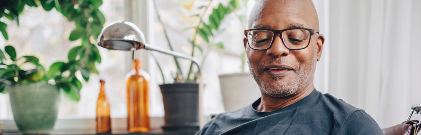
[[(100, 10), (104, 13), (106, 24), (112, 21), (124, 20), (124, 1), (105, 0)], [(69, 34), (75, 29), (73, 22), (56, 10), (44, 11), (43, 8), (25, 7), (19, 16), (20, 25), (2, 18), (8, 23), (9, 40), (1, 37), (0, 46), (12, 45), (18, 56), (35, 55), (40, 58), (45, 68), (56, 61), (66, 61), (69, 49), (80, 45), (80, 40), (70, 42)], [(112, 117), (125, 117), (125, 85), (124, 77), (131, 67), (131, 61), (125, 60), (122, 51), (100, 48), (103, 61), (97, 65), (101, 73), (93, 74), (88, 82), (83, 82), (79, 102), (70, 101), (63, 93), (59, 107), (59, 118), (94, 118), (96, 115), (96, 99), (99, 93), (99, 79), (106, 81), (107, 97), (112, 104)], [(0, 94), (0, 119), (11, 119), (13, 114), (8, 94)]]

